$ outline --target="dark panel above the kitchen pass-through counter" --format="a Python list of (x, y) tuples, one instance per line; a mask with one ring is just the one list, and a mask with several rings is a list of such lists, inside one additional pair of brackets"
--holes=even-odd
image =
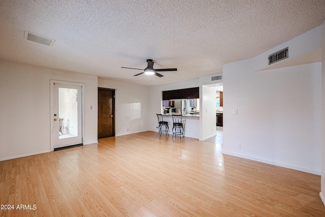
[(199, 87), (163, 91), (163, 100), (198, 99)]

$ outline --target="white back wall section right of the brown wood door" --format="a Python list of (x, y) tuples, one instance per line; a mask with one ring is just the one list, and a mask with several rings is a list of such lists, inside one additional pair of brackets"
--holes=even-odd
[(98, 86), (115, 89), (115, 136), (149, 129), (148, 86), (104, 79), (98, 79)]

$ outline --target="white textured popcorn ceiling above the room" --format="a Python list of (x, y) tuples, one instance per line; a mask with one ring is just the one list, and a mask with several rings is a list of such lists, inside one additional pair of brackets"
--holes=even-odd
[[(222, 72), (320, 25), (325, 0), (0, 1), (0, 59), (156, 85)], [(24, 40), (27, 30), (53, 46)], [(164, 77), (133, 75), (146, 59)]]

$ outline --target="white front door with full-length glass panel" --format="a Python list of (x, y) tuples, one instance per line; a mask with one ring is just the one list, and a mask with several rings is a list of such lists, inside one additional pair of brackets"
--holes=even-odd
[(82, 86), (53, 85), (54, 148), (82, 144)]

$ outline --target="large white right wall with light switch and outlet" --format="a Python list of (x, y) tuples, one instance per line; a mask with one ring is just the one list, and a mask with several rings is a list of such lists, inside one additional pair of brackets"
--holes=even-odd
[(289, 47), (289, 59), (319, 49), (320, 33), (317, 27), (252, 59), (224, 65), (223, 153), (320, 174), (321, 64), (257, 72), (281, 48)]

